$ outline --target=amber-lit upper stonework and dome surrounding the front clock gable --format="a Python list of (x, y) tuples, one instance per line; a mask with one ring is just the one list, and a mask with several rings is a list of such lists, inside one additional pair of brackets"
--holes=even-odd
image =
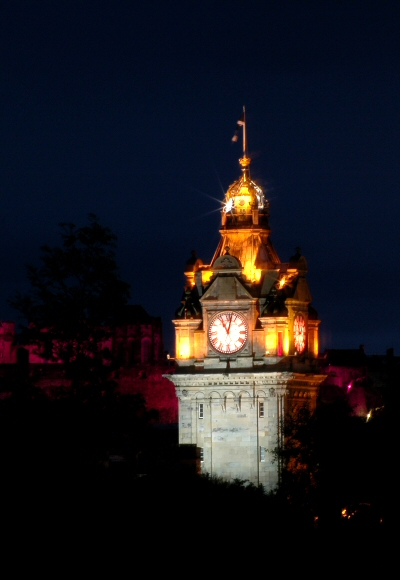
[[(202, 328), (201, 320), (208, 321), (208, 301), (215, 289), (221, 287), (222, 281), (218, 282), (217, 277), (222, 273), (216, 265), (225, 255), (238, 260), (236, 279), (249, 291), (249, 297), (257, 299), (257, 308), (247, 317), (249, 352), (256, 358), (271, 360), (293, 355), (319, 355), (319, 320), (314, 310), (311, 316), (309, 314), (312, 299), (306, 280), (307, 262), (299, 248), (288, 263), (280, 261), (270, 238), (269, 203), (261, 187), (250, 177), (250, 164), (250, 158), (244, 154), (240, 159), (242, 176), (226, 192), (221, 212), (221, 240), (211, 263), (207, 265), (197, 257), (192, 258), (193, 265), (185, 272), (187, 287), (175, 321), (177, 336), (180, 336), (176, 358), (185, 366), (188, 361), (203, 360), (209, 355), (210, 336), (207, 328)], [(226, 281), (224, 283), (226, 285)], [(235, 298), (237, 292), (240, 294), (232, 287), (227, 298)], [(218, 291), (219, 299), (222, 294)], [(299, 312), (301, 316), (296, 317)], [(193, 320), (188, 334), (182, 334), (179, 317)], [(252, 332), (257, 317), (262, 332)], [(242, 349), (239, 344), (224, 346), (223, 341), (214, 341), (213, 350), (233, 355), (241, 353)], [(240, 356), (247, 357), (249, 352), (243, 349)]]

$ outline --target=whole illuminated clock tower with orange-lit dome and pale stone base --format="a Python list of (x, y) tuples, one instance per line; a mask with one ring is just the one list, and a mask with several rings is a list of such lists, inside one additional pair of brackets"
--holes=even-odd
[(200, 448), (201, 469), (276, 487), (285, 413), (315, 406), (318, 326), (300, 248), (282, 263), (269, 203), (251, 179), (243, 120), (242, 175), (228, 189), (209, 265), (192, 253), (173, 323), (179, 442)]

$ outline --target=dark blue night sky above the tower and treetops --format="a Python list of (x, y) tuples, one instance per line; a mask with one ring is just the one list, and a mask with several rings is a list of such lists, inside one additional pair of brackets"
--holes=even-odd
[(239, 177), (282, 261), (301, 246), (321, 350), (400, 354), (400, 2), (3, 0), (0, 318), (24, 264), (88, 213), (132, 303), (171, 319)]

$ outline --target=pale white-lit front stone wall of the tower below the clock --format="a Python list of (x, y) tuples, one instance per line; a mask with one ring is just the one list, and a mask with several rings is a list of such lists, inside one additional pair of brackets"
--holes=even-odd
[(202, 450), (203, 473), (257, 482), (266, 490), (277, 486), (273, 449), (281, 437), (279, 425), (292, 376), (167, 375), (179, 399), (179, 442), (196, 443)]

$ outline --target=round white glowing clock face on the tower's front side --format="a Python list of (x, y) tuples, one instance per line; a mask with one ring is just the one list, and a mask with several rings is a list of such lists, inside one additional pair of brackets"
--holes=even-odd
[(217, 352), (232, 354), (244, 347), (248, 326), (245, 317), (238, 312), (227, 310), (216, 314), (208, 328), (211, 346)]

